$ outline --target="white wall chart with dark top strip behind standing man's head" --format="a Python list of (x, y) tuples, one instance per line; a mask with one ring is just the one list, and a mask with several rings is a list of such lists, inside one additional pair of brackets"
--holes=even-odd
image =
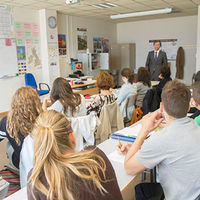
[[(153, 42), (155, 40), (149, 40), (149, 51), (153, 51)], [(178, 40), (177, 39), (165, 39), (161, 41), (161, 49), (166, 52), (167, 59), (170, 61), (176, 60), (176, 54), (178, 50)]]

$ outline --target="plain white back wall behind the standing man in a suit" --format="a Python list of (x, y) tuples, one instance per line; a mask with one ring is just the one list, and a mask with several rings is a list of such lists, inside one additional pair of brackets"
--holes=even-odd
[[(191, 83), (196, 71), (197, 16), (117, 24), (118, 43), (136, 43), (136, 67), (144, 66), (150, 39), (178, 39), (185, 51), (184, 81)], [(171, 62), (172, 77), (175, 61)]]

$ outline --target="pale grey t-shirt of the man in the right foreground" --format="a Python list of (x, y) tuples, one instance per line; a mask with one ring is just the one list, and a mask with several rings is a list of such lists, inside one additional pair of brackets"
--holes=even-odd
[(146, 168), (157, 166), (166, 200), (199, 196), (200, 127), (194, 120), (173, 121), (146, 139), (135, 157)]

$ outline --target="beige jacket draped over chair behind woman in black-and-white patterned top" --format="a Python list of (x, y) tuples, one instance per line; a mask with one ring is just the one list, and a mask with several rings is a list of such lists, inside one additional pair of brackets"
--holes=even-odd
[(122, 114), (117, 102), (104, 105), (100, 113), (101, 124), (97, 129), (96, 143), (107, 140), (111, 133), (124, 128)]

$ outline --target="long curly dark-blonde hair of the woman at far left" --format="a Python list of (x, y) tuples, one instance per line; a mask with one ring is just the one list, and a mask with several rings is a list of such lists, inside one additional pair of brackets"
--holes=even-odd
[(42, 112), (42, 104), (37, 92), (31, 87), (18, 89), (12, 97), (6, 129), (20, 145), (21, 133), (24, 137), (31, 133), (36, 118)]

